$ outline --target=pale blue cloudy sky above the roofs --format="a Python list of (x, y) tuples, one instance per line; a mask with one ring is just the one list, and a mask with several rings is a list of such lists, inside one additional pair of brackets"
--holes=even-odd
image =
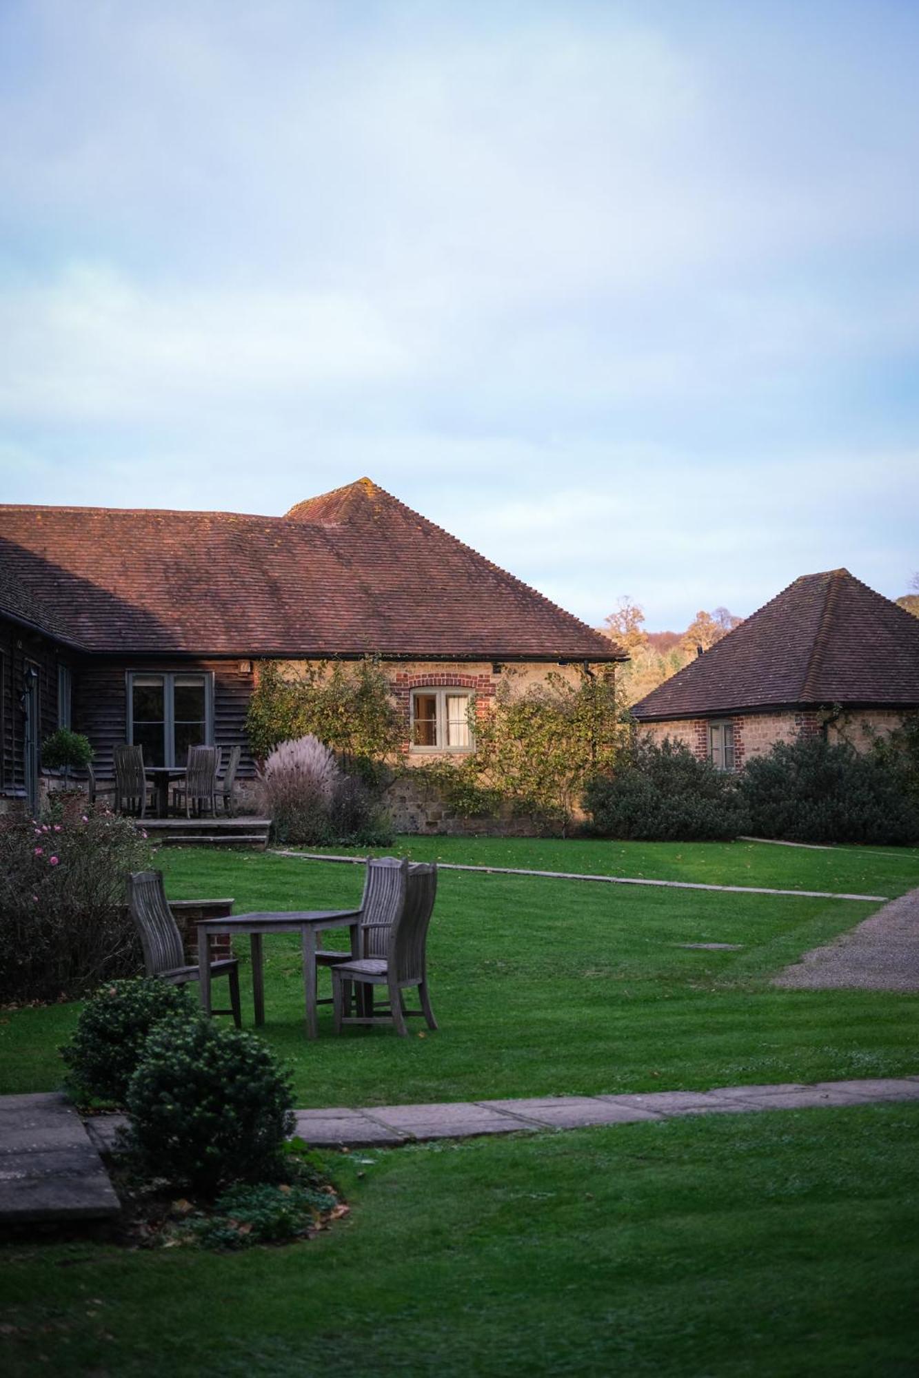
[(368, 474), (597, 623), (919, 569), (919, 6), (0, 0), (0, 500)]

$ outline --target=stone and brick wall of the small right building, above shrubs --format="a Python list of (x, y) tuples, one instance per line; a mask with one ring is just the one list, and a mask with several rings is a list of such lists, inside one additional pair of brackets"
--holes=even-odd
[(894, 730), (904, 714), (889, 708), (853, 708), (833, 718), (829, 710), (799, 708), (784, 712), (734, 712), (712, 718), (676, 718), (671, 722), (644, 723), (642, 732), (653, 741), (682, 741), (700, 759), (708, 757), (709, 722), (734, 723), (734, 762), (740, 769), (752, 757), (766, 755), (778, 741), (796, 741), (802, 736), (820, 736), (827, 725), (829, 741), (850, 741), (857, 751), (867, 751), (875, 736)]

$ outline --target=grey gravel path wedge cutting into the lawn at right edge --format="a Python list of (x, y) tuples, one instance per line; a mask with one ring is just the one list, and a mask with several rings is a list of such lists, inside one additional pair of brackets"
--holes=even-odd
[(773, 977), (802, 989), (919, 991), (919, 890), (885, 904), (869, 919)]

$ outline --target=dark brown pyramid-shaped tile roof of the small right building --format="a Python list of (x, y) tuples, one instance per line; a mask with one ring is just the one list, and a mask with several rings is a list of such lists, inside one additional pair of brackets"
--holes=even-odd
[(847, 569), (796, 579), (632, 712), (660, 722), (835, 703), (919, 706), (919, 619)]

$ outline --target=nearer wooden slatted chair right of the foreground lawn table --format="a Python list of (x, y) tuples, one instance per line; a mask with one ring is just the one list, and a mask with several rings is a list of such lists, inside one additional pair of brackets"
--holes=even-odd
[[(359, 958), (352, 962), (342, 962), (334, 966), (333, 976), (333, 1005), (335, 1007), (335, 1032), (339, 1034), (344, 1024), (395, 1024), (396, 1032), (404, 1036), (406, 1018), (424, 1017), (428, 1028), (436, 1029), (428, 994), (426, 969), (426, 941), (431, 915), (433, 912), (437, 893), (437, 865), (436, 863), (418, 863), (410, 868), (408, 885), (406, 889), (406, 903), (396, 922), (385, 926), (385, 933), (378, 937), (385, 938), (385, 956)], [(368, 938), (377, 925), (366, 925)], [(377, 945), (370, 941), (368, 945)], [(388, 1011), (374, 1013), (373, 1002), (367, 1000), (364, 1009), (356, 1016), (350, 1014), (353, 987), (385, 985), (389, 992)], [(419, 1010), (407, 1010), (403, 991), (418, 987), (421, 1000)]]

